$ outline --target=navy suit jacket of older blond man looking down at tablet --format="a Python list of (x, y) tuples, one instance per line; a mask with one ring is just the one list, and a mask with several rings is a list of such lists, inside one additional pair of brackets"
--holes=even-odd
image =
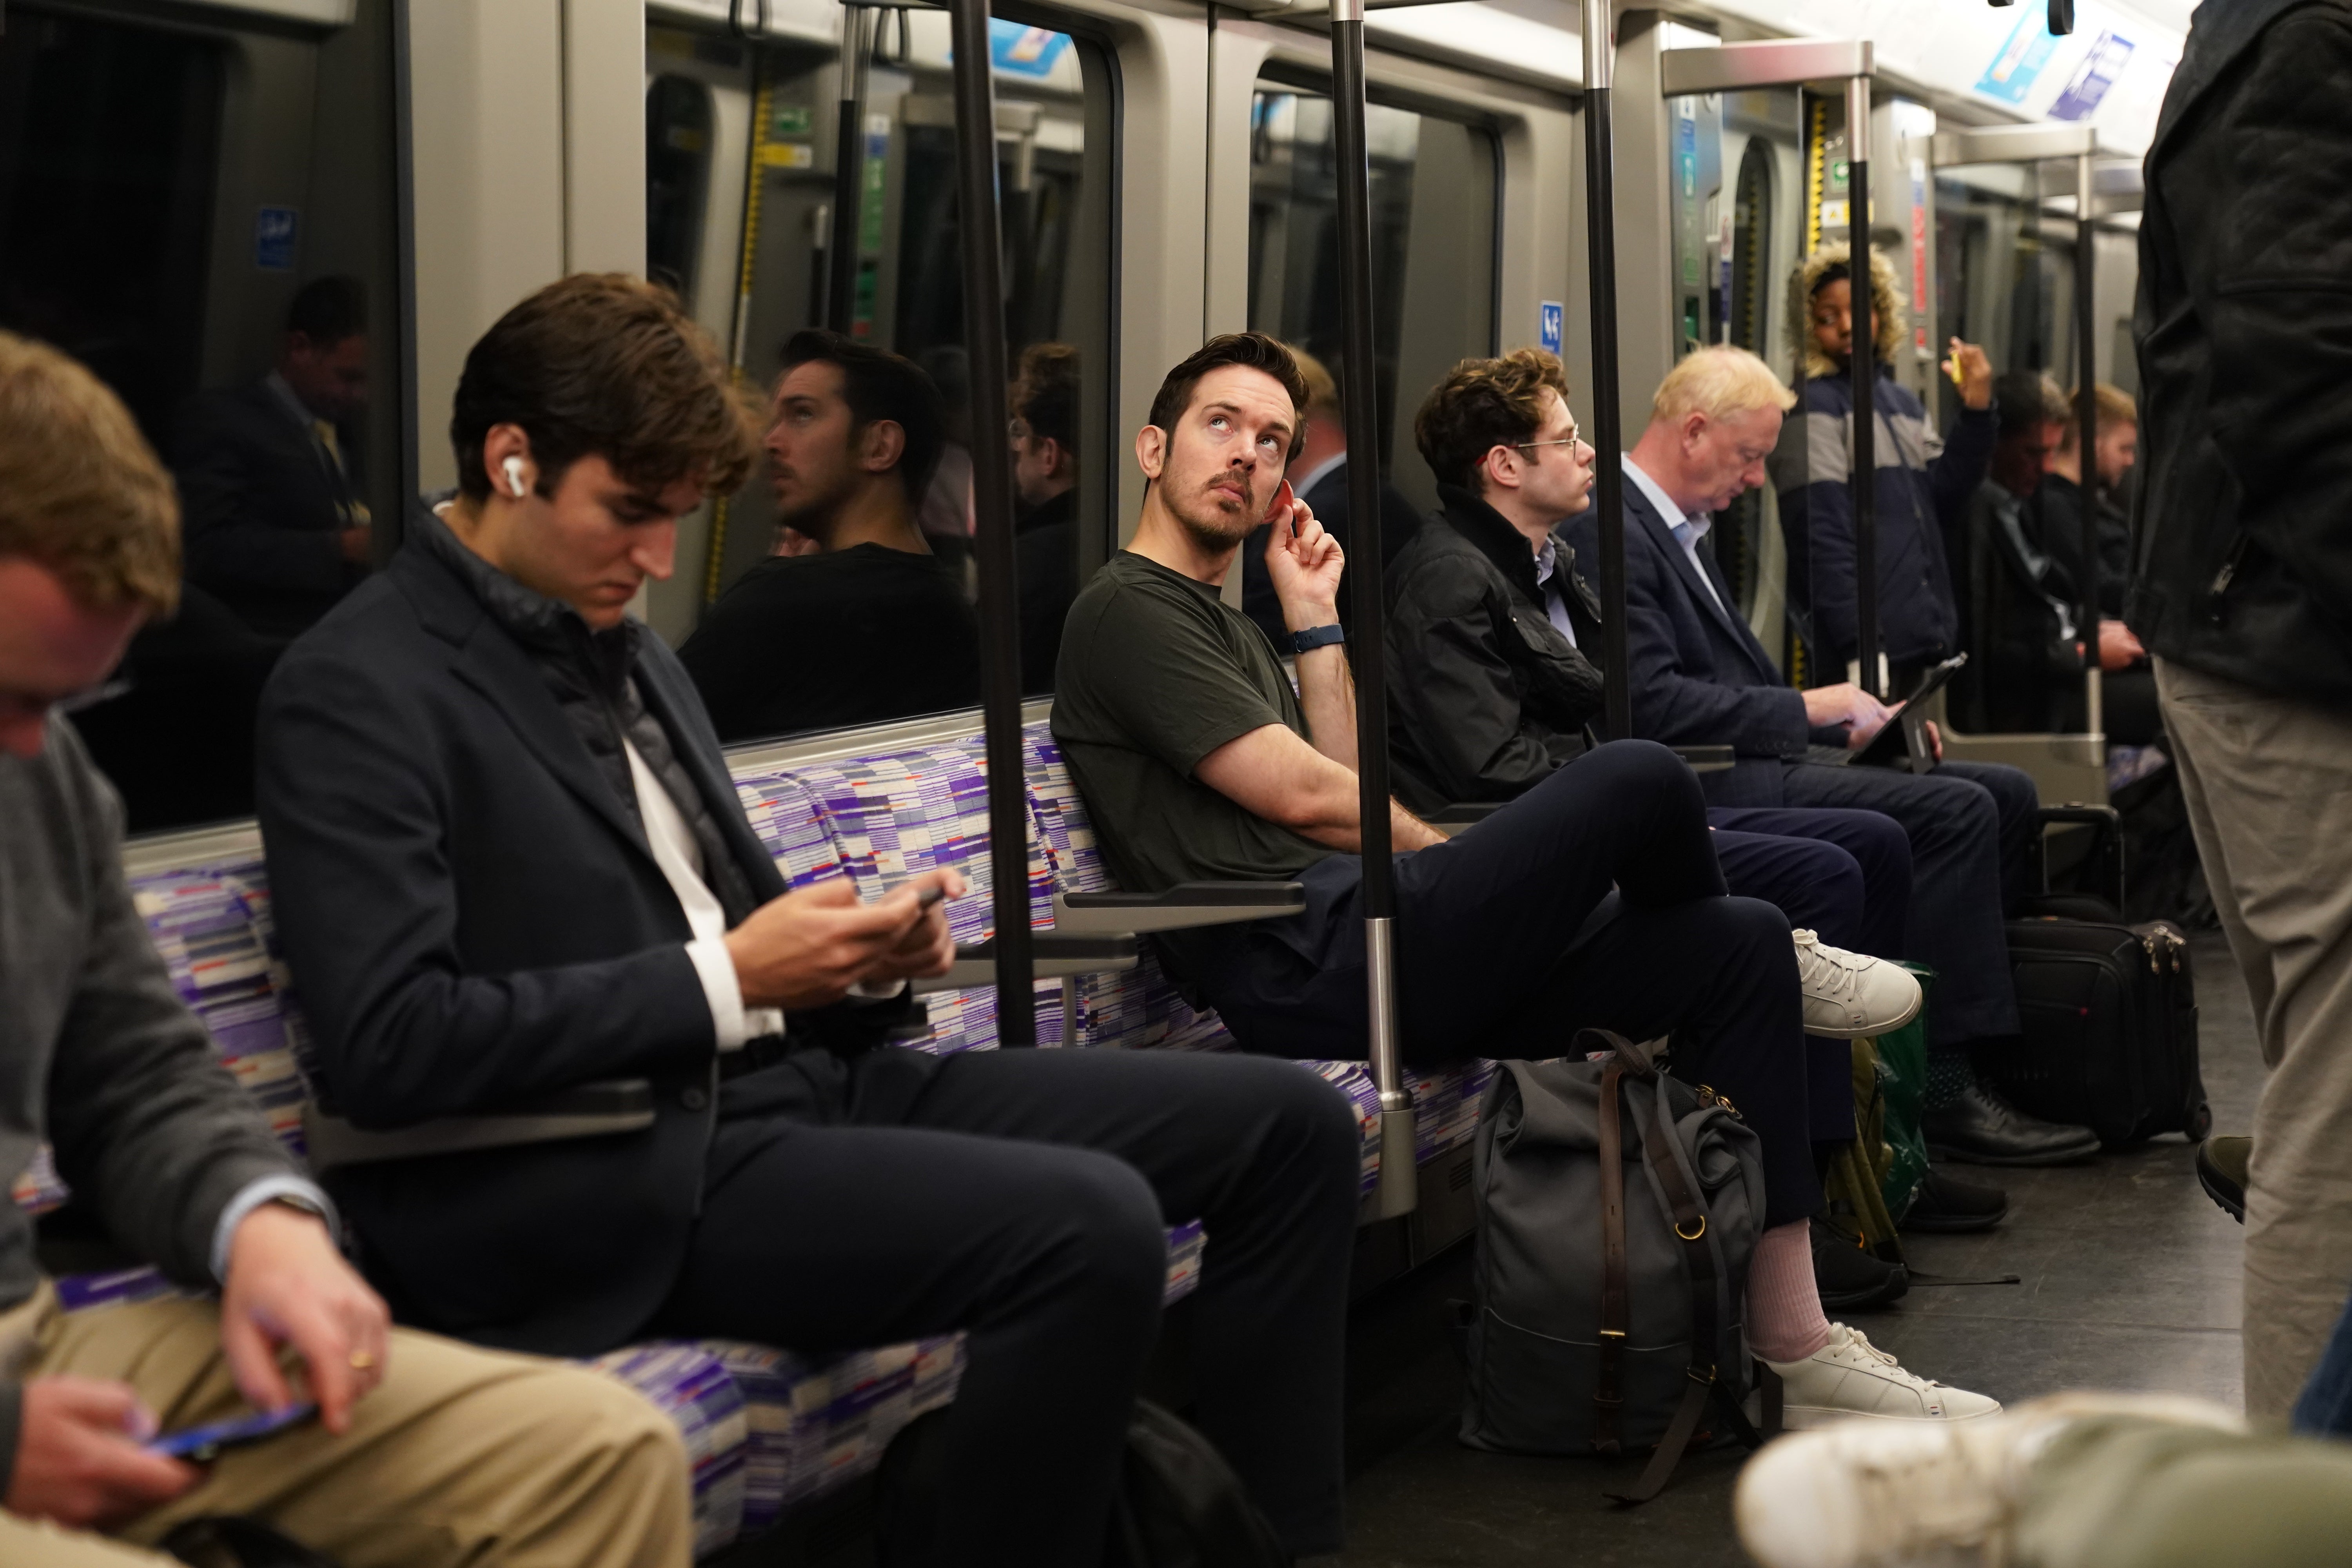
[[(1578, 574), (1597, 588), (1599, 517), (1585, 510), (1566, 531)], [(1724, 609), (1731, 588), (1715, 557), (1705, 550), (1698, 557), (1715, 595), (1628, 475), (1625, 684), (1632, 733), (1665, 745), (1729, 745), (1738, 757), (1733, 769), (1700, 773), (1708, 799), (1717, 806), (1778, 806), (1780, 759), (1804, 757), (1813, 738), (1804, 693), (1783, 684), (1748, 623)]]

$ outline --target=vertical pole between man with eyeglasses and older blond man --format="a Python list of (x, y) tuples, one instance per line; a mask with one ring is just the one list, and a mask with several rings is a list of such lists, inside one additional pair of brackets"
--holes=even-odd
[(1616, 367), (1616, 38), (1609, 0), (1585, 0), (1585, 280), (1592, 308), (1592, 505), (1602, 520), (1602, 738), (1632, 736), (1625, 684), (1625, 428)]

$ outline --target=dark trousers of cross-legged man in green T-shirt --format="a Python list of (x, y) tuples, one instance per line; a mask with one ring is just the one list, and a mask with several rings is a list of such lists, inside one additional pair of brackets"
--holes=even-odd
[[(1757, 1131), (1764, 1222), (1785, 1225), (1820, 1206), (1797, 961), (1780, 910), (1726, 896), (1715, 837), (1675, 752), (1616, 741), (1397, 856), (1397, 1020), (1418, 1067), (1559, 1056), (1585, 1025), (1672, 1034), (1675, 1072)], [(1230, 926), (1192, 980), (1251, 1051), (1362, 1058), (1362, 863), (1331, 856), (1303, 882), (1305, 914)]]

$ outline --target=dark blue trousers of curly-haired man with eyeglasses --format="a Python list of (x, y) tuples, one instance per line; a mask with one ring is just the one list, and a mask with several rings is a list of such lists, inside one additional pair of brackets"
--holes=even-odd
[[(1762, 898), (1832, 947), (1903, 957), (1910, 914), (1910, 839), (1877, 811), (1710, 806), (1715, 858), (1738, 898)], [(1813, 1143), (1853, 1138), (1853, 1046), (1804, 1039)]]

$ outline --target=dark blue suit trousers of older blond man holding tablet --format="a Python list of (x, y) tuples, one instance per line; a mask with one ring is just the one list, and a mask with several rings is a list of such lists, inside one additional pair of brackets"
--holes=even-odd
[(2034, 780), (1997, 762), (1945, 762), (1933, 773), (1790, 762), (1783, 799), (1882, 811), (1910, 835), (1912, 919), (1903, 957), (1938, 976), (1929, 1044), (2016, 1034), (2004, 917), (2025, 893)]

